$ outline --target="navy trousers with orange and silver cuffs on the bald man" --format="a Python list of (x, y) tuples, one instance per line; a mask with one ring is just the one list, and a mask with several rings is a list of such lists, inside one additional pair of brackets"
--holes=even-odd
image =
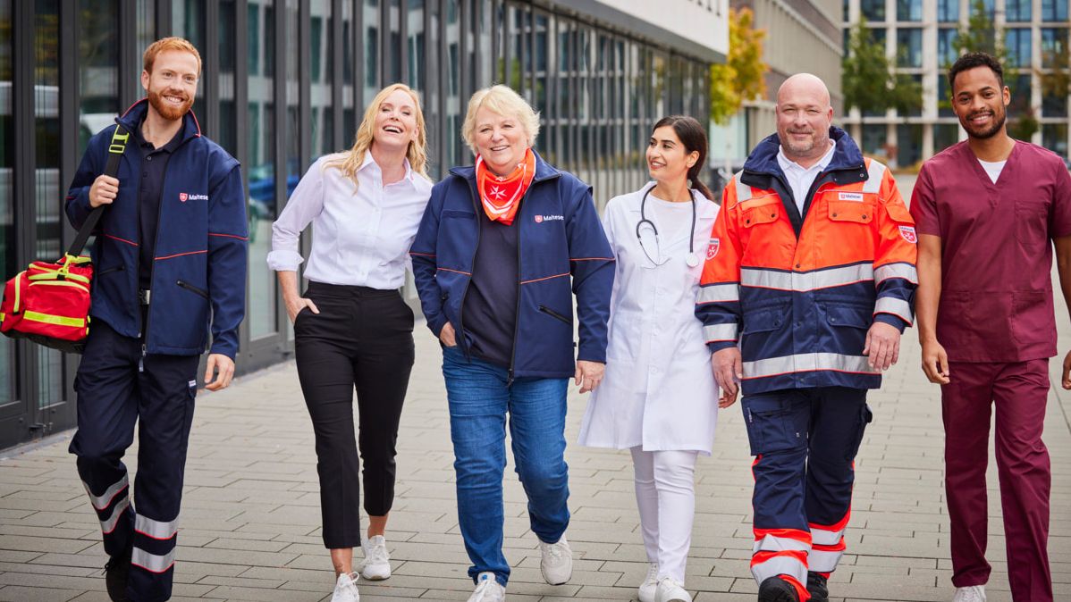
[(828, 576), (844, 554), (866, 390), (785, 389), (740, 405), (756, 457), (752, 574), (790, 577), (805, 600), (808, 571)]

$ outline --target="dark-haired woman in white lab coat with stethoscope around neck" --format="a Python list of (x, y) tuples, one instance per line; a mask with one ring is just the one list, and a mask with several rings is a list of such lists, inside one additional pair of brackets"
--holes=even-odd
[(603, 226), (617, 258), (606, 375), (592, 392), (579, 443), (630, 449), (650, 562), (640, 602), (691, 602), (684, 565), (695, 513), (694, 468), (710, 454), (718, 385), (703, 324), (699, 275), (718, 205), (698, 173), (703, 126), (690, 117), (654, 124), (653, 182), (610, 199)]

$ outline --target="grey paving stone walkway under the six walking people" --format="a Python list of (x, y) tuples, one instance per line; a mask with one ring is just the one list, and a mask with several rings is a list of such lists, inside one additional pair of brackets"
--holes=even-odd
[[(1062, 303), (1060, 349), (1071, 349)], [(909, 330), (899, 366), (870, 398), (875, 420), (857, 460), (848, 551), (831, 600), (951, 599), (942, 429), (936, 386), (918, 369)], [(362, 582), (364, 602), (466, 600), (472, 584), (457, 529), (453, 456), (436, 342), (417, 326), (417, 366), (398, 439), (397, 498), (389, 549), (394, 574)], [(1059, 366), (1051, 364), (1058, 384)], [(568, 537), (572, 581), (543, 583), (516, 475), (506, 479), (509, 599), (630, 600), (646, 572), (627, 451), (575, 442), (585, 396), (570, 393)], [(1050, 554), (1056, 599), (1071, 600), (1071, 395), (1053, 389), (1045, 441), (1053, 463)], [(71, 433), (0, 452), (0, 602), (106, 601), (95, 516), (66, 452)], [(134, 468), (136, 446), (127, 454)], [(751, 555), (751, 458), (739, 404), (723, 411), (713, 454), (696, 467), (696, 516), (688, 588), (696, 602), (755, 599)], [(512, 458), (510, 459), (512, 466)], [(991, 460), (992, 466), (992, 460)], [(316, 460), (292, 362), (198, 396), (186, 467), (175, 598), (330, 600), (333, 573), (320, 539)], [(991, 602), (1011, 600), (996, 470), (990, 470)]]

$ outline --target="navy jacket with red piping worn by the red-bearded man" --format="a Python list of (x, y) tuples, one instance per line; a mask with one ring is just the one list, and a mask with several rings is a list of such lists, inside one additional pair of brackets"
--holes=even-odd
[[(117, 119), (127, 132), (139, 127), (149, 110), (141, 99)], [(81, 227), (92, 207), (89, 189), (104, 173), (116, 126), (89, 140), (71, 182), (66, 214)], [(127, 142), (119, 164), (119, 195), (101, 218), (93, 245), (90, 315), (120, 335), (140, 337), (146, 353), (233, 358), (238, 325), (245, 315), (248, 221), (238, 161), (203, 137), (193, 111), (183, 118), (181, 142), (167, 164), (152, 265), (152, 299), (147, 324), (138, 307), (138, 185), (141, 151)], [(92, 325), (90, 326), (92, 328)]]

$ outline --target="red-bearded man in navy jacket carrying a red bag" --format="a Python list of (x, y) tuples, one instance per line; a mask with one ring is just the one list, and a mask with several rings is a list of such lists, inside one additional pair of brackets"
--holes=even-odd
[[(238, 161), (190, 110), (200, 55), (166, 37), (145, 51), (142, 98), (90, 139), (66, 197), (80, 228), (105, 207), (92, 319), (75, 376), (78, 475), (101, 522), (111, 600), (171, 597), (179, 504), (197, 392), (230, 383), (245, 311), (247, 221)], [(104, 175), (109, 155), (117, 177)], [(139, 425), (135, 495), (121, 459)]]

